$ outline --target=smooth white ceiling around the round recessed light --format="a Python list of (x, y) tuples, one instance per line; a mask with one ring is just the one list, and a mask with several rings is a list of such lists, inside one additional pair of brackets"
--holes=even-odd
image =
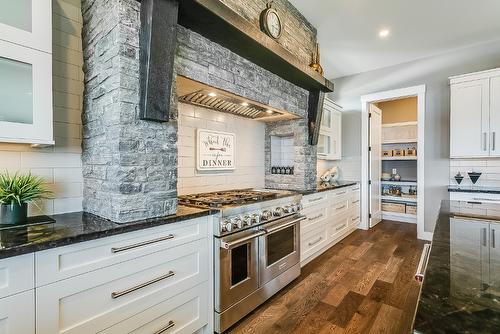
[[(290, 0), (338, 78), (500, 39), (499, 0)], [(389, 37), (378, 32), (387, 28)]]

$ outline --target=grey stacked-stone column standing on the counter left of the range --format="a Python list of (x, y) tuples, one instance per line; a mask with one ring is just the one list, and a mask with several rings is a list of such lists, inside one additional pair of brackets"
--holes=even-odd
[(83, 209), (116, 222), (177, 210), (177, 124), (139, 119), (139, 12), (82, 0)]

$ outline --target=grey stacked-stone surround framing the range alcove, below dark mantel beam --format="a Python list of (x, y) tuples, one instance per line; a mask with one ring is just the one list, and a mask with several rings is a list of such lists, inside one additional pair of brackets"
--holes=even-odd
[[(288, 2), (283, 4), (296, 12)], [(175, 85), (171, 122), (139, 119), (140, 6), (136, 0), (82, 0), (83, 209), (117, 222), (165, 216), (177, 208)], [(266, 124), (266, 187), (316, 186), (316, 147), (308, 144), (306, 90), (182, 26), (177, 27), (173, 70), (301, 116)], [(270, 135), (288, 134), (294, 135), (295, 175), (272, 175)]]

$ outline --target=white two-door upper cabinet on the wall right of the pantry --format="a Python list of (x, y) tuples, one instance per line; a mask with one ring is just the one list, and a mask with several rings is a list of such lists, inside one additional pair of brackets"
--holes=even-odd
[(450, 157), (500, 156), (500, 70), (450, 78)]

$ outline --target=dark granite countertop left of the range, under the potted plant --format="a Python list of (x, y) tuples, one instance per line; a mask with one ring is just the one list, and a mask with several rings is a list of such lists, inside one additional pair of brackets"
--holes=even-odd
[(104, 238), (214, 214), (217, 211), (179, 205), (171, 216), (118, 224), (84, 212), (51, 216), (55, 222), (23, 226), (0, 225), (0, 259)]

